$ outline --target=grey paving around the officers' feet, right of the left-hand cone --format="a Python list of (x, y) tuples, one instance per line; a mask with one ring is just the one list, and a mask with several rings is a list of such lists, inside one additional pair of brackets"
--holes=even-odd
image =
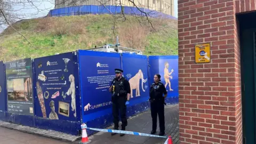
[[(158, 119), (157, 119), (158, 120)], [(121, 124), (120, 124), (121, 125)], [(150, 110), (142, 113), (138, 116), (128, 119), (128, 126), (126, 131), (140, 132), (150, 134), (152, 127), (152, 119)], [(113, 126), (108, 127), (113, 129)], [(119, 127), (119, 130), (121, 126)], [(159, 133), (159, 123), (157, 122), (157, 133)], [(165, 136), (171, 135), (173, 143), (179, 143), (179, 106), (170, 105), (165, 107)], [(103, 144), (103, 143), (116, 143), (116, 144), (132, 144), (132, 143), (147, 143), (156, 144), (164, 143), (166, 139), (163, 138), (150, 138), (138, 135), (126, 134), (124, 137), (120, 137), (119, 134), (111, 136), (111, 133), (98, 132), (91, 137), (90, 144)]]

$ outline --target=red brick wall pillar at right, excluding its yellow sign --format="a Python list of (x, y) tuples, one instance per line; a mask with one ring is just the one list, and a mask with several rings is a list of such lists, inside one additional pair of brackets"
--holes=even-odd
[[(235, 1), (179, 0), (181, 143), (242, 143), (239, 37)], [(195, 44), (211, 62), (195, 63)]]

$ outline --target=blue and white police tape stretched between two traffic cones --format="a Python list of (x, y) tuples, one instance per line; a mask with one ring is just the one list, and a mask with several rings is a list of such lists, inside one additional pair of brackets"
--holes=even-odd
[[(156, 137), (156, 138), (168, 138), (159, 135), (147, 134), (147, 133), (140, 133), (140, 132), (131, 132), (131, 131), (121, 131), (121, 130), (110, 130), (110, 129), (95, 129), (91, 127), (87, 127), (86, 124), (81, 125), (81, 129), (93, 130), (93, 131), (100, 131), (100, 132), (110, 132), (110, 133), (123, 133), (123, 134), (131, 134), (131, 135), (141, 135), (145, 137)], [(167, 139), (168, 140), (168, 139)], [(166, 141), (167, 141), (166, 140)]]

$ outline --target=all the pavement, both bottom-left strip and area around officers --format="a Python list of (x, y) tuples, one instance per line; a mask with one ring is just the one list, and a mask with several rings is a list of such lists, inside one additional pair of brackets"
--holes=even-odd
[[(128, 119), (128, 126), (126, 127), (127, 131), (141, 132), (141, 133), (150, 133), (151, 131), (151, 114), (150, 111), (146, 111), (138, 116)], [(113, 127), (108, 127), (112, 129)], [(159, 124), (157, 122), (157, 133), (159, 133)], [(171, 105), (165, 107), (165, 133), (166, 137), (171, 135), (173, 143), (179, 143), (179, 106)], [(132, 143), (147, 143), (147, 144), (156, 144), (164, 143), (166, 139), (163, 138), (150, 138), (143, 137), (138, 135), (129, 135), (126, 134), (124, 137), (120, 137), (118, 134), (111, 136), (110, 133), (98, 132), (89, 137), (90, 144), (132, 144)], [(65, 144), (75, 142), (59, 141), (52, 138), (43, 137), (41, 135), (35, 135), (30, 133), (21, 132), (18, 130), (6, 129), (0, 127), (0, 143), (1, 144)]]

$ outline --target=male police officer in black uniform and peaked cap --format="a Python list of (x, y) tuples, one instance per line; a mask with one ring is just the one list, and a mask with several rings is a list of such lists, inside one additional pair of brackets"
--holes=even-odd
[[(125, 126), (127, 126), (126, 119), (126, 105), (129, 105), (129, 100), (131, 96), (131, 88), (130, 83), (122, 76), (123, 70), (115, 69), (116, 78), (113, 80), (110, 85), (109, 91), (112, 94), (112, 113), (114, 117), (114, 130), (118, 130), (119, 118), (118, 114), (120, 111), (121, 121), (122, 121), (122, 130), (125, 131)], [(111, 135), (115, 135), (116, 133), (111, 133)], [(124, 134), (120, 134), (123, 136)]]

